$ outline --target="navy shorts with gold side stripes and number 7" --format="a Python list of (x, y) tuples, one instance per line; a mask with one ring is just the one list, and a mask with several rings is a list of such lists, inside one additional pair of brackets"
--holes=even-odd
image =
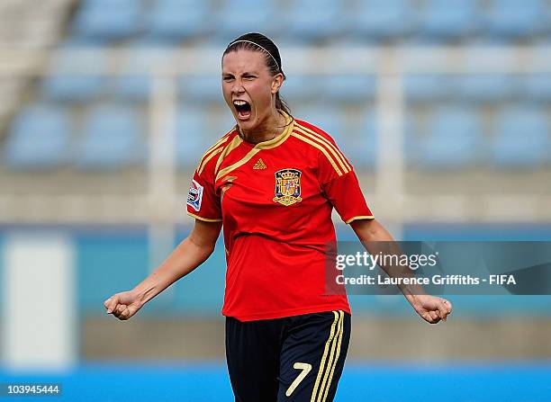
[(350, 341), (342, 310), (241, 322), (226, 318), (236, 402), (330, 402)]

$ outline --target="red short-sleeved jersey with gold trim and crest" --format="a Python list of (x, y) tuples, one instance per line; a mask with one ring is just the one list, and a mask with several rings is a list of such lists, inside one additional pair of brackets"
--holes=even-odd
[(331, 210), (346, 223), (373, 219), (335, 141), (286, 118), (282, 134), (256, 145), (238, 130), (223, 136), (197, 166), (187, 200), (195, 219), (222, 221), (222, 314), (240, 321), (349, 313), (346, 294), (324, 294), (326, 249), (336, 242)]

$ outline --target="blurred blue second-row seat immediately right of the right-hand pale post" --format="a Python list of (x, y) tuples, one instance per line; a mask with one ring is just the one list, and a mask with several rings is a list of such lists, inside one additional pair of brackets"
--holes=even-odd
[(434, 102), (449, 94), (449, 76), (416, 74), (405, 76), (404, 93), (406, 101)]

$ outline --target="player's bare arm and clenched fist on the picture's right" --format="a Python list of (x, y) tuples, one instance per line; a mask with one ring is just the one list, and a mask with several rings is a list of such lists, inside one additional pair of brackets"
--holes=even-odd
[[(350, 226), (371, 255), (379, 252), (376, 242), (386, 242), (384, 252), (388, 252), (388, 245), (391, 245), (392, 253), (402, 254), (391, 234), (377, 220), (357, 219), (351, 222)], [(391, 277), (413, 277), (407, 266), (381, 265), (381, 268)], [(446, 321), (452, 311), (452, 304), (447, 299), (428, 295), (420, 285), (400, 285), (399, 288), (417, 314), (429, 324), (436, 324), (440, 320)]]

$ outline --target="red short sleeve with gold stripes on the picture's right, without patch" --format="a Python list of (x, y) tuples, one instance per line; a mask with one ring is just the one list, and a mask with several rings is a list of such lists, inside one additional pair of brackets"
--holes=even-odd
[(348, 160), (339, 154), (339, 158), (320, 155), (318, 161), (321, 190), (340, 218), (347, 224), (357, 219), (374, 219)]

